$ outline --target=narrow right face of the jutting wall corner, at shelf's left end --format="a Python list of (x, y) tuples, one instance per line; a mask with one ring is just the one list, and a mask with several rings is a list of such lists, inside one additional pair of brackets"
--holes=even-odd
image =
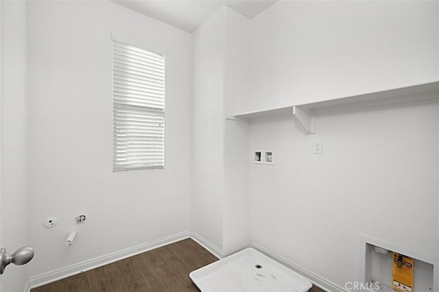
[[(250, 21), (230, 8), (225, 9), (224, 111), (231, 116), (248, 97)], [(248, 124), (225, 121), (224, 251), (248, 243)]]

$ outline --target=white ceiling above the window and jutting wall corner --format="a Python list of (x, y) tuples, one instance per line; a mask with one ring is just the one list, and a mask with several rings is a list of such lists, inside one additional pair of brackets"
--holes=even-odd
[(251, 19), (278, 0), (110, 0), (152, 18), (193, 32), (222, 6)]

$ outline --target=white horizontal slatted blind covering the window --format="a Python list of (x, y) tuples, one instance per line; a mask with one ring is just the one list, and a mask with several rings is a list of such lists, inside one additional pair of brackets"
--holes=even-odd
[(113, 40), (113, 171), (165, 167), (165, 56)]

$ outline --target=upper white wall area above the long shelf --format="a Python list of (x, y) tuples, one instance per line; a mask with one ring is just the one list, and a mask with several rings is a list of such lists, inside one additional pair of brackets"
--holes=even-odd
[(437, 1), (278, 1), (251, 21), (235, 114), (438, 78)]

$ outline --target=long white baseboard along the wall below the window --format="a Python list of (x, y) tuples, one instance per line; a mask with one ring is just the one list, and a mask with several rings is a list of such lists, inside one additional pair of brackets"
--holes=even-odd
[(132, 248), (126, 248), (125, 250), (119, 250), (118, 252), (112, 252), (111, 254), (92, 258), (91, 260), (84, 261), (82, 263), (77, 263), (68, 267), (62, 267), (54, 271), (48, 271), (47, 273), (30, 277), (27, 280), (25, 292), (29, 292), (31, 288), (43, 286), (44, 284), (48, 284), (50, 282), (55, 282), (69, 276), (73, 276), (75, 274), (80, 274), (84, 271), (95, 269), (97, 267), (102, 267), (103, 265), (108, 265), (109, 263), (114, 263), (115, 261), (119, 261), (123, 258), (129, 258), (130, 256), (141, 254), (142, 252), (147, 252), (148, 250), (160, 248), (163, 245), (174, 243), (182, 239), (187, 239), (189, 238), (189, 235), (189, 231), (183, 231), (181, 233), (177, 233), (176, 235), (163, 237), (161, 239), (157, 239), (148, 243), (143, 243)]

